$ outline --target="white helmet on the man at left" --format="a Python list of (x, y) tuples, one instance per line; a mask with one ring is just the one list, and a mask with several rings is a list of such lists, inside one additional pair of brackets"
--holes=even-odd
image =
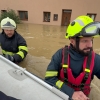
[(1, 28), (2, 29), (15, 30), (16, 29), (16, 23), (15, 23), (14, 20), (12, 20), (9, 17), (7, 17), (7, 18), (2, 19)]

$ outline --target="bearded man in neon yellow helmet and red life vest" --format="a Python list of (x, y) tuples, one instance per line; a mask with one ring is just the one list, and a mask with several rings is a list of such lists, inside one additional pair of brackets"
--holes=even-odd
[(100, 36), (100, 22), (79, 16), (66, 30), (69, 45), (59, 49), (51, 59), (45, 81), (72, 100), (88, 100), (93, 76), (100, 79), (100, 55), (93, 51), (93, 39)]

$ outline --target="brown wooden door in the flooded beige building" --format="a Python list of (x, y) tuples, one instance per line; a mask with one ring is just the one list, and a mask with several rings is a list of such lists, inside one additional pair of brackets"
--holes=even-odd
[(62, 10), (62, 26), (68, 26), (70, 24), (72, 10)]

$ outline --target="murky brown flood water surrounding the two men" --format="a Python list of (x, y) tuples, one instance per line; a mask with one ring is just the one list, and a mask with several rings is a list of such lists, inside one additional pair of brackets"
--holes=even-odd
[[(21, 67), (44, 79), (46, 68), (52, 55), (61, 47), (69, 44), (65, 39), (66, 27), (19, 24), (17, 32), (20, 33), (28, 45), (28, 55), (20, 63)], [(94, 39), (94, 51), (100, 53), (100, 38)], [(100, 81), (95, 77), (91, 87), (90, 100), (100, 100)]]

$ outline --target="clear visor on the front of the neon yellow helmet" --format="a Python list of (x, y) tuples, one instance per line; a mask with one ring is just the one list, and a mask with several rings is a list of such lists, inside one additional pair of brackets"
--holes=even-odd
[(85, 26), (80, 32), (80, 36), (100, 36), (100, 22), (93, 22)]

